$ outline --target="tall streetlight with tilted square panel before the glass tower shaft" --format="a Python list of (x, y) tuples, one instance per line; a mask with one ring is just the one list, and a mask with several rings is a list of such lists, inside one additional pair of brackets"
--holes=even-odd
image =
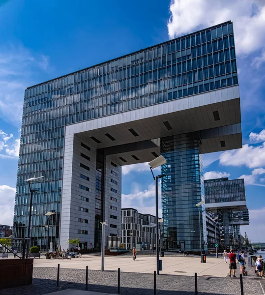
[(159, 241), (158, 241), (158, 236), (159, 236), (159, 224), (158, 224), (158, 179), (165, 177), (165, 174), (160, 174), (158, 176), (154, 176), (153, 170), (156, 167), (159, 167), (163, 164), (167, 163), (167, 160), (161, 155), (154, 160), (152, 160), (148, 165), (150, 166), (150, 170), (152, 173), (152, 176), (155, 180), (155, 211), (156, 211), (156, 273), (159, 274)]

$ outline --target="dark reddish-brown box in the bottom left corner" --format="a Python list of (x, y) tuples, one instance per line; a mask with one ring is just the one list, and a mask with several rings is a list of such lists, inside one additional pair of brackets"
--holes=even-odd
[(31, 285), (32, 271), (33, 259), (0, 260), (0, 289)]

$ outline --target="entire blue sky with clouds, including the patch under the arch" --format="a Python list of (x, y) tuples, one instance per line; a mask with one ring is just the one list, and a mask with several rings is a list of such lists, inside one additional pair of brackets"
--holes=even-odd
[[(207, 178), (244, 177), (252, 241), (265, 230), (265, 3), (0, 0), (0, 223), (12, 224), (24, 89), (224, 21), (234, 22), (243, 148), (204, 156)], [(264, 131), (263, 131), (264, 130)], [(123, 169), (123, 206), (154, 213), (146, 164)]]

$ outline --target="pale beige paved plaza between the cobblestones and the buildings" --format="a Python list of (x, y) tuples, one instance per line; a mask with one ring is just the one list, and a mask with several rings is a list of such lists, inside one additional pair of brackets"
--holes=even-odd
[[(229, 263), (225, 264), (222, 258), (207, 256), (206, 263), (201, 263), (199, 256), (169, 256), (160, 259), (163, 260), (161, 274), (193, 276), (197, 272), (198, 276), (225, 278), (229, 272)], [(71, 260), (34, 259), (34, 267), (57, 267), (58, 264), (61, 268), (86, 269), (88, 266), (90, 270), (100, 270), (101, 257), (84, 255)], [(118, 270), (118, 267), (123, 272), (153, 273), (156, 270), (156, 257), (138, 256), (133, 261), (132, 257), (128, 256), (105, 256), (105, 270)], [(237, 274), (239, 276), (239, 264)]]

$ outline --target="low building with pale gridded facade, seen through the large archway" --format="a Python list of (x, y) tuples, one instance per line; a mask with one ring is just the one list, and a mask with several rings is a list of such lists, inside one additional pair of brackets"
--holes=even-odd
[[(135, 247), (151, 250), (156, 246), (156, 218), (151, 214), (141, 214), (134, 208), (121, 209), (121, 244), (123, 248)], [(159, 218), (162, 220), (161, 218)], [(162, 223), (159, 222), (161, 237)], [(160, 239), (162, 241), (162, 238)]]

